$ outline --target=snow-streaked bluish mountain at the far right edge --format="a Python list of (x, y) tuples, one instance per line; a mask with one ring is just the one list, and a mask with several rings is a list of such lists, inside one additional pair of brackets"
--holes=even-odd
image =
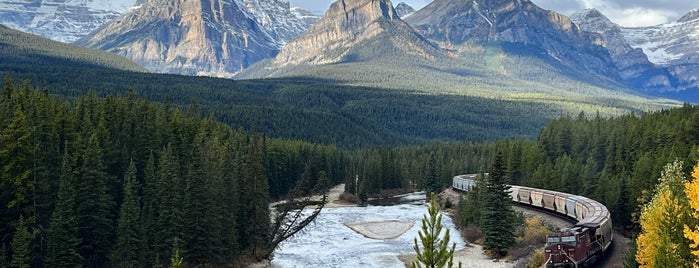
[(583, 30), (602, 36), (631, 87), (647, 92), (699, 88), (699, 11), (677, 22), (638, 28), (614, 24), (594, 9), (573, 14), (571, 19)]

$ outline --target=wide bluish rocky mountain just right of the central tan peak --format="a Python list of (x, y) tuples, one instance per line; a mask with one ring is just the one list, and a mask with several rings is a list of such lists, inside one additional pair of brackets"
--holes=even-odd
[(445, 48), (504, 44), (599, 78), (620, 78), (598, 36), (528, 0), (435, 0), (406, 22)]

